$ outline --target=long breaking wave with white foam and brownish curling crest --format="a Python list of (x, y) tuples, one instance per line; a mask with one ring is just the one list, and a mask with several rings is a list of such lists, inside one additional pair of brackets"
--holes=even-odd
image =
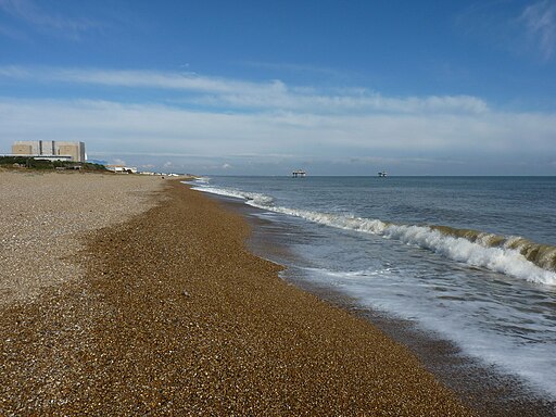
[(556, 247), (521, 237), (500, 236), (438, 225), (403, 225), (380, 219), (274, 205), (271, 197), (233, 189), (193, 185), (193, 189), (245, 200), (254, 207), (313, 223), (394, 239), (430, 250), (453, 261), (483, 267), (531, 282), (556, 286)]

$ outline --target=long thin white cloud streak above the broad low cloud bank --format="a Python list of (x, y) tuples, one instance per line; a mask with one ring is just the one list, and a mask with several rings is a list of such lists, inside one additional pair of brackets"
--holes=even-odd
[(249, 83), (189, 73), (153, 71), (100, 71), (83, 68), (0, 67), (0, 77), (74, 85), (151, 88), (188, 93), (182, 103), (230, 110), (303, 111), (311, 113), (483, 113), (488, 104), (470, 96), (388, 98), (364, 89), (316, 91), (289, 87), (280, 80)]

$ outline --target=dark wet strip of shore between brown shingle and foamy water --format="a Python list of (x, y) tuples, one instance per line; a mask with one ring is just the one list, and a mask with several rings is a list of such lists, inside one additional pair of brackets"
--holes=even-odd
[[(258, 256), (277, 261), (295, 255), (277, 237), (287, 233), (282, 226), (257, 216), (263, 210), (218, 194), (206, 194), (223, 202), (229, 210), (243, 215), (252, 225), (249, 247)], [(282, 230), (283, 229), (283, 230)], [(261, 249), (263, 248), (263, 249)], [(273, 255), (273, 252), (278, 251)], [(280, 261), (278, 261), (280, 262)], [(484, 416), (556, 416), (556, 401), (548, 393), (534, 390), (519, 377), (466, 355), (460, 348), (440, 334), (419, 329), (415, 323), (392, 317), (386, 313), (359, 306), (345, 294), (326, 286), (283, 277), (303, 291), (315, 294), (353, 315), (368, 320), (391, 339), (407, 346), (425, 367), (442, 383), (453, 390), (464, 404)]]

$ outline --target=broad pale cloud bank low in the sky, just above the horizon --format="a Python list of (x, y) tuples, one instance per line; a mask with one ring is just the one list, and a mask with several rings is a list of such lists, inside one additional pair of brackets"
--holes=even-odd
[(84, 140), (91, 154), (556, 154), (554, 114), (225, 114), (155, 104), (3, 99), (0, 129), (7, 149), (9, 140)]

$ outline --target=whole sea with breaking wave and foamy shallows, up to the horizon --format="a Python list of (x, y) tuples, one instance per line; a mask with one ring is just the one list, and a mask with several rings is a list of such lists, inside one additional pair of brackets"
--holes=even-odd
[[(407, 320), (556, 399), (556, 177), (201, 177), (285, 279)], [(265, 255), (265, 254), (263, 254)]]

